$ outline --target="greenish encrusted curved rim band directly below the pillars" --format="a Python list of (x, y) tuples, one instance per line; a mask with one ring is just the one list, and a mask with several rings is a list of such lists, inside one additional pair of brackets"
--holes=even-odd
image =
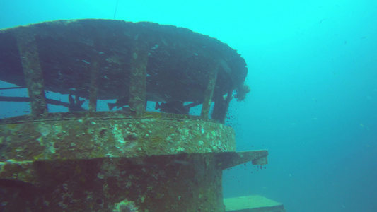
[(77, 119), (0, 126), (1, 161), (132, 158), (235, 151), (222, 124), (163, 119)]

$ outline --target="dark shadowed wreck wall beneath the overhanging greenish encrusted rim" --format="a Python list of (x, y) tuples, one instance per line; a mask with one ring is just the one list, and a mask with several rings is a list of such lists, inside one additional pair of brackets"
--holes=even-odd
[[(224, 211), (214, 153), (6, 162), (0, 168), (4, 211)], [(10, 172), (18, 179), (4, 175)]]

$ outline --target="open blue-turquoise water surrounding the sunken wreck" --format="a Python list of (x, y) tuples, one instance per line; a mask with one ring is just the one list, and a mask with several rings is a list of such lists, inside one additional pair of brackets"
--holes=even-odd
[[(95, 2), (95, 3), (93, 3)], [(0, 28), (112, 19), (116, 1), (0, 1)], [(190, 28), (245, 58), (252, 88), (232, 102), (238, 151), (269, 164), (224, 172), (224, 197), (287, 211), (377, 211), (377, 1), (125, 1), (115, 18)]]

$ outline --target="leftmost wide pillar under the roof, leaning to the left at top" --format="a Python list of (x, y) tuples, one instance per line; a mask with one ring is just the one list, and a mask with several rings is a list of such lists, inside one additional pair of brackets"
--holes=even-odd
[(31, 114), (40, 117), (48, 112), (44, 89), (42, 69), (35, 41), (34, 32), (29, 28), (20, 28), (15, 33), (18, 51), (20, 52), (21, 64), (26, 87), (28, 88)]

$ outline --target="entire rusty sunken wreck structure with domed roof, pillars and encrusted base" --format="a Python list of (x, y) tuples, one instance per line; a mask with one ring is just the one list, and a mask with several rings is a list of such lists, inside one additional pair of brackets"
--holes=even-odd
[[(224, 211), (222, 170), (267, 163), (267, 151), (236, 152), (224, 125), (233, 96), (248, 92), (248, 70), (212, 37), (156, 23), (57, 20), (1, 30), (0, 49), (0, 80), (28, 89), (0, 101), (29, 102), (31, 111), (0, 119), (3, 211)], [(100, 100), (127, 107), (98, 111)], [(200, 115), (148, 111), (151, 101), (202, 107)]]

